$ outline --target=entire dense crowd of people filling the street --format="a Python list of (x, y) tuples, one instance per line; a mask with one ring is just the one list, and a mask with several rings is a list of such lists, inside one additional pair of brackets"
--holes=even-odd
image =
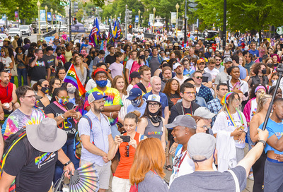
[[(136, 37), (104, 51), (88, 37), (49, 45), (25, 38), (17, 47), (4, 41), (0, 191), (11, 184), (16, 191), (48, 191), (64, 170), (90, 163), (99, 191), (243, 191), (247, 178), (253, 191), (281, 191), (283, 84), (278, 90), (275, 84), (283, 39), (269, 44), (220, 51), (201, 40), (183, 47)], [(83, 95), (64, 82), (72, 65)], [(27, 139), (7, 155), (4, 142), (25, 128)]]

